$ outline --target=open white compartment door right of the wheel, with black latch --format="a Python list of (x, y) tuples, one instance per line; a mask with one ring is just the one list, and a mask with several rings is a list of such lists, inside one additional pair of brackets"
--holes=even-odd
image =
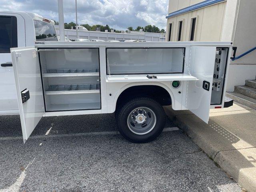
[(216, 47), (191, 47), (189, 70), (196, 81), (188, 81), (186, 106), (208, 123)]

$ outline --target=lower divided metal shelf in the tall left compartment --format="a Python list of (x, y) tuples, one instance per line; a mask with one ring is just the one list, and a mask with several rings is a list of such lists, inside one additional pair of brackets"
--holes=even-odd
[(100, 84), (50, 85), (46, 95), (100, 93)]

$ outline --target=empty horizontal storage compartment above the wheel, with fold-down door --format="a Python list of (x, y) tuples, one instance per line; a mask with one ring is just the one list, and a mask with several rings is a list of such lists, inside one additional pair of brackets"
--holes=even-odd
[(183, 73), (185, 48), (107, 48), (108, 74)]

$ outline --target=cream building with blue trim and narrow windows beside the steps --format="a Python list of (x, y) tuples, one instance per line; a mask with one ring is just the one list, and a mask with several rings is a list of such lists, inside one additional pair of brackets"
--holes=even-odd
[[(255, 10), (255, 0), (169, 0), (166, 40), (232, 41), (240, 56), (256, 47)], [(255, 76), (256, 50), (231, 62), (227, 91)]]

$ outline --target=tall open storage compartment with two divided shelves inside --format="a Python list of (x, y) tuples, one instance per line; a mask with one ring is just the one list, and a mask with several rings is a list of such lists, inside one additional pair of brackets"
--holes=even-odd
[(101, 108), (98, 48), (39, 51), (47, 112)]

